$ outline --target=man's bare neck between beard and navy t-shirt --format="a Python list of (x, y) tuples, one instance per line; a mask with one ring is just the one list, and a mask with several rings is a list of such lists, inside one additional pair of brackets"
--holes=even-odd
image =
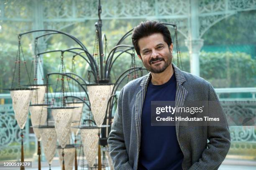
[(153, 85), (162, 85), (166, 82), (168, 82), (168, 80), (170, 80), (170, 78), (172, 77), (174, 71), (172, 68), (172, 64), (170, 64), (163, 72), (161, 73), (153, 73), (151, 72), (152, 78), (151, 78), (151, 82)]

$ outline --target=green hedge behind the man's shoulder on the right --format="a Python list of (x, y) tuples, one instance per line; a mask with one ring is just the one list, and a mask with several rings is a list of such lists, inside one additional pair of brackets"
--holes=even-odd
[[(182, 70), (190, 72), (189, 54), (182, 53)], [(174, 57), (174, 60), (175, 57)], [(200, 77), (220, 87), (256, 87), (256, 60), (243, 52), (200, 52)]]

